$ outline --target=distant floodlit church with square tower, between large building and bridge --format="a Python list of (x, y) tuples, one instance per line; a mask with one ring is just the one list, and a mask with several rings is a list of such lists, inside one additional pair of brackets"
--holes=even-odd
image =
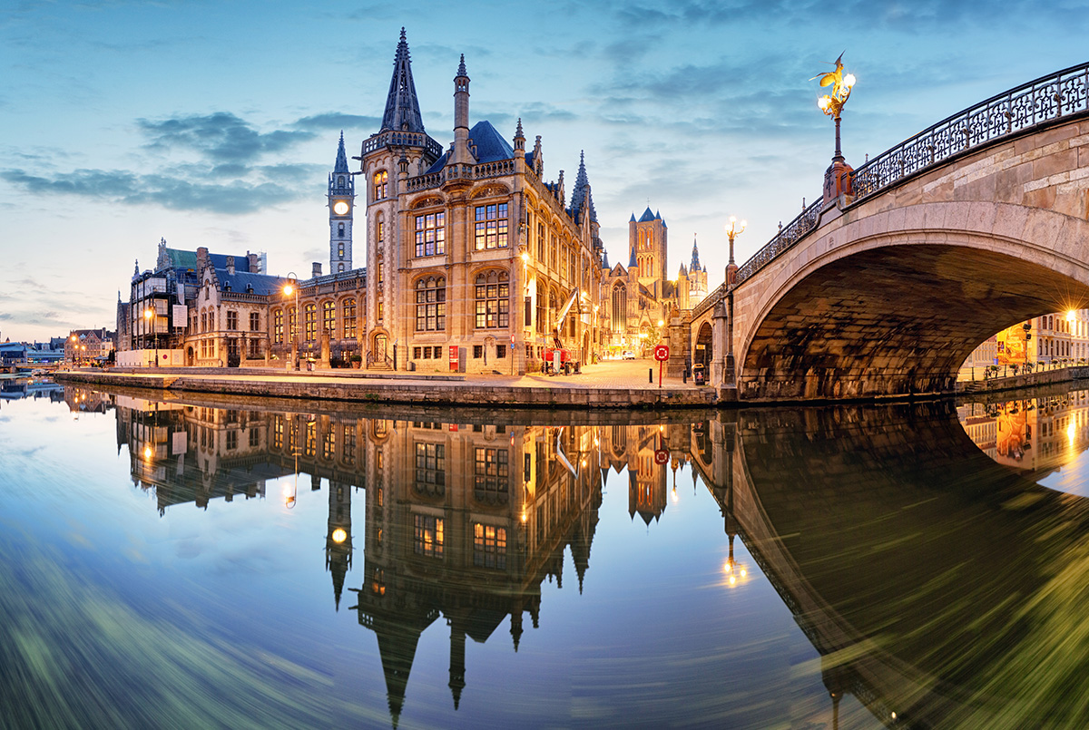
[[(602, 322), (604, 351), (631, 350), (646, 355), (664, 338), (671, 320), (690, 310), (707, 296), (707, 268), (699, 248), (692, 244), (692, 262), (669, 275), (669, 228), (661, 213), (650, 207), (628, 221), (628, 265), (602, 265)], [(661, 323), (661, 324), (660, 324)]]

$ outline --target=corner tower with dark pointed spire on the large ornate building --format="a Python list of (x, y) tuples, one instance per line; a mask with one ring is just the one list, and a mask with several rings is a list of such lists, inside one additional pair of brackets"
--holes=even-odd
[[(382, 126), (363, 141), (358, 159), (366, 185), (367, 205), (367, 344), (371, 367), (392, 366), (393, 345), (408, 341), (411, 312), (397, 312), (396, 272), (406, 267), (414, 231), (401, 231), (400, 198), (407, 193), (409, 175), (419, 175), (442, 156), (442, 146), (424, 131), (424, 119), (412, 78), (412, 61), (405, 29), (393, 58), (393, 76), (386, 99)], [(444, 222), (443, 224), (444, 225)], [(436, 221), (435, 230), (442, 227)], [(407, 302), (406, 302), (407, 306)], [(400, 323), (400, 324), (399, 324)], [(401, 327), (401, 329), (399, 329)], [(405, 348), (396, 354), (402, 363)]]

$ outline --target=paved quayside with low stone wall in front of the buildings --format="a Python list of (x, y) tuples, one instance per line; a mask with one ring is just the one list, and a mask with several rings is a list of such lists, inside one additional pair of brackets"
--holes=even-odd
[[(653, 373), (649, 382), (648, 371)], [(317, 400), (518, 408), (707, 408), (734, 392), (663, 378), (653, 360), (608, 360), (572, 375), (286, 371), (271, 368), (60, 370), (61, 383)]]

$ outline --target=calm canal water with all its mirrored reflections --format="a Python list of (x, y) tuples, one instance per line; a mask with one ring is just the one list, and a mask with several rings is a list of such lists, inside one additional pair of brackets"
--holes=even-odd
[(0, 399), (0, 725), (1089, 723), (1089, 394)]

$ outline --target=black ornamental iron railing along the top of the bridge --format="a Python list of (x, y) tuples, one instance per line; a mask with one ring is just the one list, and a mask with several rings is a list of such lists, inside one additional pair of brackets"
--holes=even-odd
[[(852, 173), (855, 201), (967, 150), (1086, 112), (1089, 63), (1042, 76), (942, 120), (856, 169)], [(818, 199), (746, 261), (737, 270), (737, 284), (812, 231), (820, 209)]]

